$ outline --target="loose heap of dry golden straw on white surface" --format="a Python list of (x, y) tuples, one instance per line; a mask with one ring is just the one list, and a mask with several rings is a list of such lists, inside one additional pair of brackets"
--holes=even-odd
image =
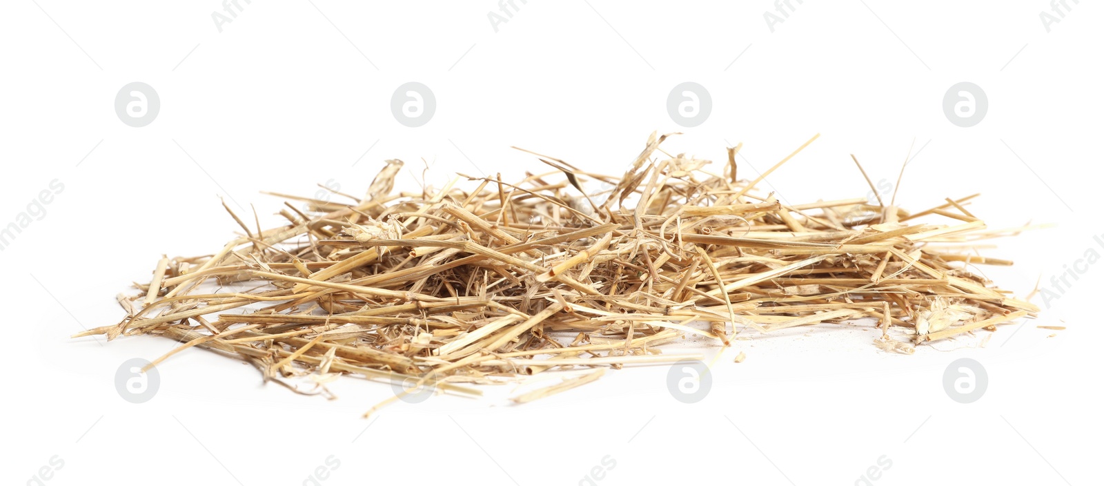
[[(152, 364), (197, 346), (280, 383), (351, 373), (478, 393), (456, 383), (673, 361), (687, 355), (662, 345), (686, 335), (728, 346), (872, 318), (879, 347), (911, 353), (1039, 310), (964, 270), (1010, 264), (963, 253), (995, 235), (966, 209), (977, 194), (914, 214), (864, 198), (786, 205), (755, 184), (811, 139), (747, 181), (739, 146), (714, 175), (658, 157), (665, 138), (619, 178), (538, 155), (552, 171), (393, 193), (403, 162), (389, 160), (363, 198), (335, 194), (349, 203), (285, 197), (287, 224), (264, 231), (234, 215), (241, 237), (162, 258), (138, 296), (120, 295), (119, 324), (77, 336), (164, 336), (185, 345)], [(924, 215), (949, 224), (914, 222)], [(215, 282), (238, 292), (205, 293)]]

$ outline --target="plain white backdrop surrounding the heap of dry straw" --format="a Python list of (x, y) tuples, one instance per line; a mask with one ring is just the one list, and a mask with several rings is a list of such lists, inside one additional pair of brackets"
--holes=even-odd
[[(871, 484), (1098, 484), (1101, 265), (985, 348), (887, 355), (873, 331), (835, 328), (739, 341), (692, 405), (657, 366), (524, 406), (503, 388), (362, 420), (389, 387), (349, 378), (332, 387), (339, 400), (299, 397), (202, 350), (161, 364), (158, 394), (131, 404), (116, 369), (176, 342), (68, 339), (117, 323), (115, 294), (162, 253), (232, 237), (220, 196), (276, 223), (279, 201), (259, 191), (311, 196), (333, 180), (360, 194), (389, 158), (407, 162), (406, 188), (422, 159), (436, 187), (456, 171), (543, 170), (510, 146), (622, 173), (652, 130), (684, 131), (671, 154), (718, 161), (743, 141), (746, 178), (820, 133), (764, 186), (790, 203), (866, 194), (849, 154), (895, 182), (912, 147), (906, 208), (981, 192), (970, 209), (992, 229), (1051, 224), (985, 250), (1016, 261), (980, 270), (1023, 296), (1086, 251), (1104, 254), (1092, 239), (1104, 234), (1098, 3), (1069, 1), (1048, 32), (1042, 0), (794, 0), (772, 32), (775, 6), (761, 0), (518, 0), (497, 33), (490, 0), (240, 3), (221, 33), (215, 0), (4, 4), (0, 224), (64, 183), (0, 252), (4, 484), (39, 484), (56, 456), (64, 466), (42, 484), (300, 485), (331, 455), (340, 466), (319, 484), (587, 484), (606, 456), (616, 465), (595, 484), (851, 485), (882, 456), (892, 466)], [(114, 109), (135, 81), (161, 101), (142, 128)], [(420, 128), (390, 109), (408, 81), (437, 99)], [(712, 115), (683, 129), (666, 99), (687, 81), (710, 91)], [(989, 102), (970, 128), (943, 113), (963, 81)], [(943, 390), (963, 357), (989, 376), (972, 404)]]

